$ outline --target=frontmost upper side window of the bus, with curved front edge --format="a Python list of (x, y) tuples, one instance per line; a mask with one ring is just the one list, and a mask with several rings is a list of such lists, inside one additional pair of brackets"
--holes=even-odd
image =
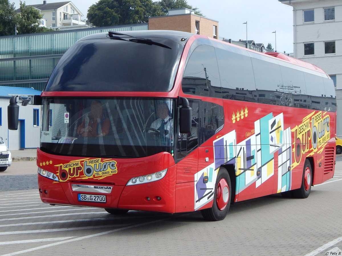
[(185, 94), (222, 97), (214, 47), (200, 45), (195, 48), (184, 70), (182, 90)]

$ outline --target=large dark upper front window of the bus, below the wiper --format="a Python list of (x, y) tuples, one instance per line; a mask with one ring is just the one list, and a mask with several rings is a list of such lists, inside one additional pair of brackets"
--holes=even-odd
[(76, 42), (63, 55), (45, 91), (170, 91), (183, 45), (169, 48), (109, 38)]

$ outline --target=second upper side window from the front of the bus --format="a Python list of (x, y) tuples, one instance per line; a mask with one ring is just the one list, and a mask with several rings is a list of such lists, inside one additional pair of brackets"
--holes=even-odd
[(222, 97), (256, 101), (251, 58), (239, 48), (215, 48), (221, 77)]

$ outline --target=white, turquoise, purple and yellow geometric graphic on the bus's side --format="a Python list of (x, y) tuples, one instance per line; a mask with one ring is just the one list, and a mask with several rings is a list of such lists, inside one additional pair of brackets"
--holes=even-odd
[[(282, 113), (277, 116), (269, 113), (255, 121), (253, 133), (244, 141), (237, 143), (233, 130), (213, 144), (214, 163), (195, 175), (195, 210), (213, 199), (221, 165), (235, 166), (236, 195), (253, 184), (258, 188), (275, 171), (278, 173), (277, 193), (291, 189), (291, 128), (285, 129)], [(211, 179), (205, 184), (203, 178), (206, 175)]]

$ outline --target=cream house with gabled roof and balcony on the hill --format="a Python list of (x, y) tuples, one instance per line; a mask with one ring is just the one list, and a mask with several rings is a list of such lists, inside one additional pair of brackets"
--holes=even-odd
[[(70, 1), (47, 3), (43, 1), (41, 4), (32, 4), (43, 15), (41, 20), (41, 26), (58, 29), (68, 30), (76, 28), (88, 28), (85, 19), (81, 19), (83, 14), (77, 9), (77, 7)], [(20, 9), (16, 10), (20, 12)]]

